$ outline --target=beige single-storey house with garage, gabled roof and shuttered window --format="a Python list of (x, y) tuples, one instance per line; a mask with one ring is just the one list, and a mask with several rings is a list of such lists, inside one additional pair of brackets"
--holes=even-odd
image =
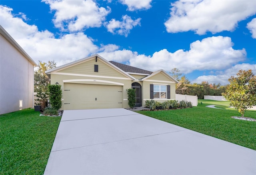
[(126, 89), (136, 89), (136, 106), (175, 99), (176, 79), (164, 70), (146, 71), (92, 55), (46, 71), (62, 86), (62, 109), (128, 108)]

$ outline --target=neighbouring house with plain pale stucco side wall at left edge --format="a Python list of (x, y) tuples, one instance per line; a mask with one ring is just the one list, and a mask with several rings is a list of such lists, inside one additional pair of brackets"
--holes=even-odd
[(33, 107), (36, 63), (0, 26), (0, 114)]

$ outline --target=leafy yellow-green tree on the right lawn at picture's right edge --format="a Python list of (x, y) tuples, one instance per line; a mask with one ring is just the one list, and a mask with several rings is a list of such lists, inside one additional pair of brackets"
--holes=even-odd
[(222, 95), (243, 117), (246, 110), (256, 104), (256, 76), (251, 69), (240, 70), (236, 75), (228, 79), (230, 85)]

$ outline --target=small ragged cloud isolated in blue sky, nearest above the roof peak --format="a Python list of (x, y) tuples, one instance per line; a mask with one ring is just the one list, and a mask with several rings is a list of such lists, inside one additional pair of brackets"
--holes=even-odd
[(124, 35), (127, 37), (132, 28), (135, 26), (140, 26), (140, 20), (141, 18), (132, 20), (130, 16), (124, 15), (122, 16), (122, 21), (112, 19), (109, 22), (106, 22), (105, 26), (109, 32), (113, 34), (118, 33), (119, 35)]

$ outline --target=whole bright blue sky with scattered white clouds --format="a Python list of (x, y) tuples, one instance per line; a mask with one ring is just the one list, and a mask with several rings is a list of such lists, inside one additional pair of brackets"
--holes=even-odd
[(256, 74), (255, 0), (1, 0), (0, 24), (36, 62), (98, 53), (222, 85)]

